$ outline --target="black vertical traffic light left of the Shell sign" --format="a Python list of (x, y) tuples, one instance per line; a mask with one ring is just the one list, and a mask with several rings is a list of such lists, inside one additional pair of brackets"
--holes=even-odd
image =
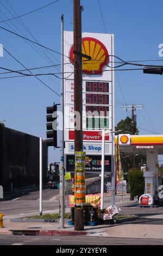
[(47, 124), (46, 124), (46, 137), (48, 139), (46, 139), (46, 143), (48, 147), (57, 147), (57, 104), (54, 104), (51, 107), (47, 107), (46, 108), (46, 120), (47, 120)]

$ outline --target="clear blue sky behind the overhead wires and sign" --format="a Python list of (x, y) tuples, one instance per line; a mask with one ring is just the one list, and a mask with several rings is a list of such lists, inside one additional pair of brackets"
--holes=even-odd
[[(18, 15), (28, 13), (52, 1), (47, 0), (8, 0)], [(0, 21), (12, 17), (13, 10), (6, 0), (0, 1)], [(159, 57), (159, 44), (162, 37), (161, 0), (99, 0), (107, 33), (115, 34), (115, 55), (124, 60), (155, 60), (163, 64)], [(6, 7), (4, 7), (3, 5)], [(97, 0), (81, 0), (84, 7), (82, 13), (82, 31), (105, 33)], [(9, 13), (10, 11), (10, 13)], [(60, 16), (64, 14), (64, 28), (73, 31), (73, 2), (60, 0), (50, 7), (33, 14), (23, 16), (21, 20), (41, 44), (60, 52)], [(20, 21), (20, 20), (19, 20)], [(21, 22), (21, 21), (20, 21)], [(14, 25), (16, 27), (14, 27)], [(0, 26), (21, 32), (32, 39), (32, 36), (17, 22), (2, 22)], [(0, 28), (1, 29), (1, 28)], [(18, 31), (20, 29), (20, 31)], [(24, 66), (34, 68), (60, 63), (60, 55), (52, 52), (48, 60), (41, 57), (21, 38), (1, 29), (0, 43)], [(33, 46), (34, 47), (34, 46)], [(37, 51), (38, 48), (36, 48)], [(155, 64), (157, 62), (149, 62)], [(148, 62), (146, 62), (148, 64)], [(13, 70), (24, 69), (7, 52), (0, 58), (0, 66)], [(127, 66), (126, 66), (127, 68)], [(60, 72), (57, 69), (43, 69), (43, 72)], [(3, 72), (3, 70), (1, 70)], [(41, 72), (41, 71), (37, 71)], [(150, 131), (163, 133), (162, 126), (162, 95), (163, 77), (159, 75), (143, 75), (140, 71), (119, 71), (115, 81), (116, 88), (116, 123), (126, 118), (122, 105), (143, 104), (144, 108), (137, 111), (137, 126), (140, 134), (151, 134)], [(3, 75), (0, 75), (2, 77)], [(60, 80), (52, 77), (41, 77), (41, 80), (60, 94)], [(120, 87), (121, 85), (121, 87)], [(59, 103), (59, 97), (43, 86), (34, 77), (19, 77), (0, 80), (1, 101), (0, 119), (5, 119), (7, 127), (46, 138), (46, 106), (53, 101)], [(122, 95), (123, 92), (123, 95)], [(128, 115), (131, 113), (128, 112)], [(145, 129), (145, 130), (142, 130)], [(146, 131), (148, 130), (148, 131)], [(59, 150), (49, 149), (49, 162), (59, 160)]]

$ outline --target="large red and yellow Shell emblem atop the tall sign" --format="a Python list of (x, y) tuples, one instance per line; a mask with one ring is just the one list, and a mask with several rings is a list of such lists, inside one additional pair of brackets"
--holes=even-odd
[[(70, 61), (74, 63), (74, 46), (70, 48)], [(83, 73), (85, 74), (101, 74), (103, 68), (109, 63), (109, 53), (104, 44), (95, 39), (86, 37), (82, 39), (82, 53), (91, 57), (88, 60), (82, 57)]]

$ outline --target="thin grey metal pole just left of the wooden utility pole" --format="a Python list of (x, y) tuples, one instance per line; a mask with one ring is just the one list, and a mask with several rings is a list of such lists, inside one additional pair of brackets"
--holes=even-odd
[(65, 213), (65, 169), (64, 169), (64, 15), (61, 15), (61, 129), (60, 129), (60, 220), (59, 227), (64, 227)]

